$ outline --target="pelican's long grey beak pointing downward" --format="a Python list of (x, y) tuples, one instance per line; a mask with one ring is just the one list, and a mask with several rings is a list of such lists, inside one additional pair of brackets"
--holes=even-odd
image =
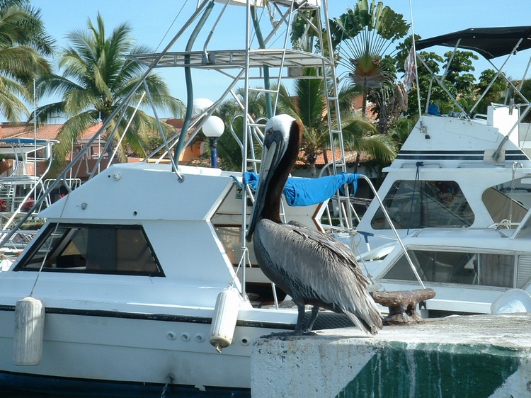
[[(251, 221), (247, 229), (246, 239), (251, 241), (253, 232), (262, 214), (265, 206), (265, 198), (268, 193), (270, 183), (273, 181), (275, 170), (277, 169), (282, 156), (286, 152), (287, 142), (285, 134), (281, 130), (274, 130), (273, 127), (265, 129), (265, 137), (263, 140), (263, 154), (260, 166), (260, 176), (258, 177), (258, 188), (254, 195), (253, 212), (251, 213)], [(283, 188), (283, 187), (282, 187)]]

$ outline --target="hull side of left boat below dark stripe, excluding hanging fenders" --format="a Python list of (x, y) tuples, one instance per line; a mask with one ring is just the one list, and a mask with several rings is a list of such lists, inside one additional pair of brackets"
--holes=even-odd
[(217, 353), (208, 342), (208, 317), (47, 309), (40, 364), (17, 366), (14, 314), (10, 307), (0, 311), (0, 380), (4, 387), (24, 390), (50, 383), (55, 390), (69, 390), (97, 381), (159, 386), (159, 394), (166, 384), (190, 390), (186, 394), (218, 388), (223, 394), (227, 388), (244, 392), (250, 389), (252, 341), (293, 326), (239, 320), (234, 343)]

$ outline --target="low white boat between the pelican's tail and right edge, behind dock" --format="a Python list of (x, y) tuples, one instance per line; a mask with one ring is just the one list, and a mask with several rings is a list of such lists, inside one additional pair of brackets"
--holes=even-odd
[(527, 215), (518, 229), (420, 229), (402, 239), (407, 256), (393, 244), (360, 262), (379, 289), (435, 290), (423, 317), (531, 312), (529, 228)]

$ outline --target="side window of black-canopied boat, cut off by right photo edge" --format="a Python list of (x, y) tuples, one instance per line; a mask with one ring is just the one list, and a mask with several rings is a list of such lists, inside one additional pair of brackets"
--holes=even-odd
[(510, 221), (514, 228), (523, 220), (527, 210), (531, 207), (531, 185), (525, 183), (528, 178), (519, 178), (486, 189), (483, 201), (493, 222)]

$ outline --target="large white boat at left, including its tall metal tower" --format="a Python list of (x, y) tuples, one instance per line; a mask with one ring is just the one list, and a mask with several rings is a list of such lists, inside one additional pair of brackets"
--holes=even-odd
[[(309, 1), (298, 10), (316, 9), (327, 23), (326, 0), (322, 3), (321, 8), (321, 1)], [(185, 29), (211, 6), (212, 1), (203, 1), (172, 43), (179, 42)], [(268, 1), (268, 6), (282, 12), (287, 23), (299, 12), (291, 1)], [(224, 10), (223, 5), (217, 7)], [(241, 9), (242, 18), (250, 21), (249, 5), (248, 12)], [(278, 24), (273, 28), (276, 31)], [(248, 45), (250, 37), (248, 33)], [(232, 88), (249, 77), (252, 68), (278, 69), (280, 80), (290, 67), (333, 66), (332, 59), (285, 48), (209, 50), (207, 62), (200, 61), (204, 50), (170, 52), (170, 48), (135, 58), (149, 70), (189, 67), (191, 62), (195, 68), (222, 74), (236, 71), (227, 90), (236, 100)], [(333, 68), (329, 70), (333, 73)], [(334, 76), (323, 76), (329, 77)], [(198, 118), (191, 121), (195, 132), (222, 99), (199, 110)], [(246, 100), (240, 99), (249, 115)], [(119, 117), (120, 111), (113, 116)], [(247, 154), (252, 137), (260, 139), (263, 132), (250, 115), (244, 120), (249, 134), (241, 144)], [(189, 138), (185, 132), (181, 137)], [(164, 141), (171, 152), (171, 139)], [(250, 268), (256, 260), (242, 239), (246, 217), (241, 215), (250, 213), (242, 174), (170, 160), (110, 166), (41, 212), (46, 222), (38, 235), (13, 266), (0, 273), (1, 387), (250, 396), (253, 339), (292, 331), (297, 311), (267, 307), (264, 301), (278, 303), (275, 290), (265, 285), (264, 292), (267, 280), (261, 280), (259, 273), (253, 275), (258, 268)], [(245, 164), (246, 169), (256, 170), (252, 157)], [(48, 189), (54, 188), (51, 184)], [(319, 227), (322, 212), (321, 204), (285, 209), (290, 220), (314, 228)], [(270, 297), (264, 300), (264, 295)], [(21, 301), (26, 296), (35, 300)], [(224, 302), (229, 305), (223, 307)], [(336, 322), (336, 317), (319, 319)]]

